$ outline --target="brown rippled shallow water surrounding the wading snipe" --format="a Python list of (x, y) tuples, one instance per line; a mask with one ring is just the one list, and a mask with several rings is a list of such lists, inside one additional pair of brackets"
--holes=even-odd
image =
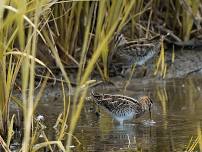
[[(124, 83), (115, 81), (121, 89)], [(148, 123), (149, 114), (145, 114), (121, 126), (102, 109), (96, 115), (96, 106), (87, 101), (75, 130), (81, 142), (75, 151), (184, 151), (191, 137), (197, 137), (197, 126), (202, 126), (202, 78), (131, 80), (125, 92), (104, 85), (95, 89), (135, 98), (150, 95), (155, 123)], [(51, 98), (41, 103), (39, 113), (52, 125), (62, 109), (62, 100)]]

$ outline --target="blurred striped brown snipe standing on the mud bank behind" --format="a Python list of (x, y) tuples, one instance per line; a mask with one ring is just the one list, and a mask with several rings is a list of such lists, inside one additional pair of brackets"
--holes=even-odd
[(122, 34), (116, 34), (110, 52), (109, 63), (113, 67), (130, 68), (132, 65), (141, 66), (160, 52), (160, 36), (143, 44), (128, 42)]

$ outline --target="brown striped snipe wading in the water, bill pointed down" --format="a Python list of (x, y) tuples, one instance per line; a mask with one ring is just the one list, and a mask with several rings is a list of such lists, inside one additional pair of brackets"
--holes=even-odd
[(150, 112), (152, 106), (152, 100), (148, 96), (136, 100), (124, 95), (100, 94), (92, 91), (91, 97), (121, 124), (124, 120), (138, 118), (146, 111)]

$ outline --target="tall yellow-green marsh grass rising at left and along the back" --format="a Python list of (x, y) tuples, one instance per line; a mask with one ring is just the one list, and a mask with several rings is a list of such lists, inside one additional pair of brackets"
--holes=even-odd
[[(18, 79), (22, 80), (20, 85), (22, 99), (18, 101), (21, 101), (24, 119), (23, 126), (21, 126), (24, 128), (21, 151), (37, 151), (44, 147), (54, 151), (52, 145), (57, 145), (62, 151), (69, 151), (72, 138), (76, 139), (73, 134), (87, 90), (95, 82), (90, 79), (91, 73), (97, 68), (104, 80), (109, 79), (108, 56), (115, 32), (121, 32), (130, 27), (132, 37), (148, 38), (156, 32), (151, 27), (154, 26), (153, 21), (159, 19), (158, 13), (160, 12), (167, 28), (173, 30), (174, 33), (180, 29), (179, 35), (176, 35), (183, 40), (191, 37), (195, 27), (195, 16), (201, 9), (198, 5), (200, 1), (174, 2), (169, 0), (168, 2), (165, 6), (167, 11), (161, 12), (162, 1), (152, 0), (147, 3), (142, 0), (0, 1), (0, 135), (3, 137), (2, 147), (9, 151), (13, 136), (12, 126), (15, 116), (9, 116), (9, 102), (13, 97), (12, 92), (18, 76), (20, 77)], [(173, 9), (177, 13), (168, 11), (173, 7), (170, 6), (172, 3), (176, 3)], [(188, 7), (189, 12), (185, 12), (182, 9), (184, 7)], [(169, 20), (173, 16), (174, 25)], [(149, 22), (144, 24), (143, 20)], [(64, 97), (64, 110), (58, 117), (58, 120), (62, 122), (59, 128), (60, 133), (53, 141), (49, 141), (46, 137), (43, 124), (34, 118), (49, 73), (54, 79), (50, 68), (36, 55), (39, 51), (38, 42), (43, 42), (50, 50), (63, 76), (61, 92)], [(49, 53), (46, 50), (43, 51)], [(157, 72), (161, 69), (162, 76), (166, 73), (164, 60), (162, 43), (161, 57), (157, 64)], [(48, 71), (38, 94), (35, 92), (36, 64), (42, 65)], [(70, 74), (65, 66), (72, 64), (78, 69), (77, 87), (73, 97), (66, 99), (64, 87), (67, 86), (69, 94), (73, 88), (69, 79)], [(165, 102), (162, 103), (164, 104)], [(166, 114), (166, 109), (164, 113)], [(41, 143), (38, 141), (40, 133), (44, 137), (44, 142)], [(63, 140), (65, 142), (62, 142)]]

